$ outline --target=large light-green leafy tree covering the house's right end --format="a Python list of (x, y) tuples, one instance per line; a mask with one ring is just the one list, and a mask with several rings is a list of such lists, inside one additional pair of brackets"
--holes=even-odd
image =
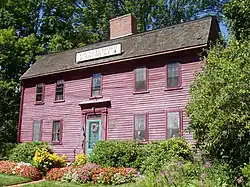
[(187, 106), (197, 145), (232, 166), (250, 157), (250, 41), (231, 39), (209, 51)]

